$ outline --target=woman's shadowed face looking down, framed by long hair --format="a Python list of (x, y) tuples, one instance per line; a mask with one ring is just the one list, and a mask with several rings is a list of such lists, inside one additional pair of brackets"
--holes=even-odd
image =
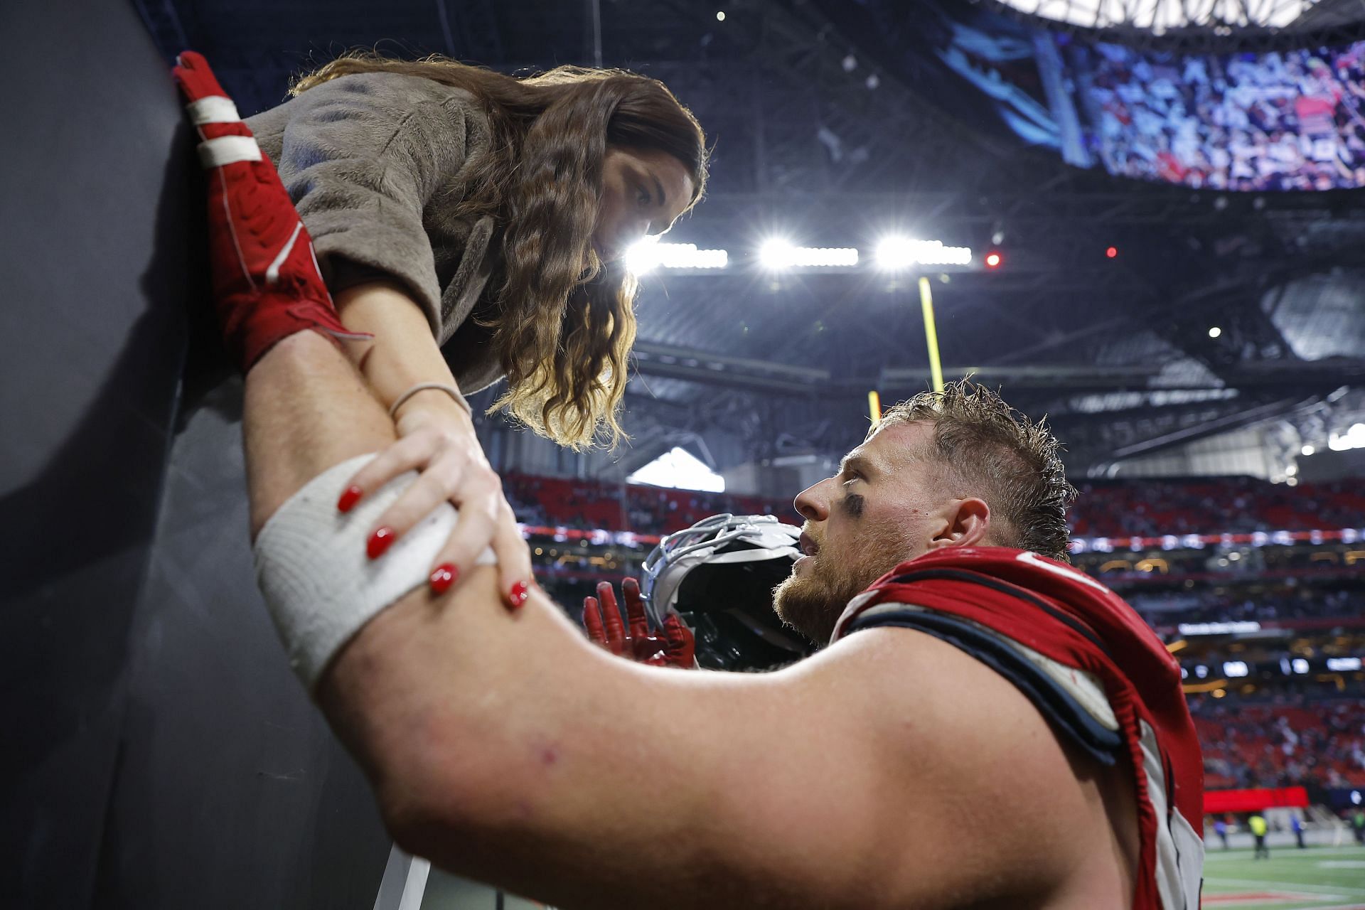
[(663, 233), (692, 203), (687, 165), (665, 151), (612, 146), (602, 160), (602, 203), (592, 248), (603, 262), (648, 233)]

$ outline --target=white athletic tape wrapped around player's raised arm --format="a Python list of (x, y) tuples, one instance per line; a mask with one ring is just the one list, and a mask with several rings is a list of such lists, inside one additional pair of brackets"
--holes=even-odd
[[(382, 557), (367, 558), (370, 529), (418, 479), (415, 471), (403, 473), (349, 513), (337, 512), (347, 482), (371, 458), (351, 458), (310, 480), (257, 536), (257, 584), (289, 666), (310, 693), (336, 652), (366, 622), (427, 583), (431, 563), (455, 528), (456, 510), (442, 503)], [(495, 562), (490, 548), (475, 561)]]

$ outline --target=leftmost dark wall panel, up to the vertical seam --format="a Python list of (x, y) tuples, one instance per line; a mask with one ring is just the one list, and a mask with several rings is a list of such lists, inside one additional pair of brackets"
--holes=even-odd
[(81, 907), (183, 357), (192, 153), (130, 10), (7, 0), (0, 34), (0, 903)]

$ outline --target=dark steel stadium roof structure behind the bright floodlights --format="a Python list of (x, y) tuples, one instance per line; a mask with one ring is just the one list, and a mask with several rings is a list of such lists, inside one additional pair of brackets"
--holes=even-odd
[[(1360, 191), (1222, 194), (1069, 168), (940, 106), (932, 61), (883, 57), (841, 12), (865, 4), (734, 0), (723, 22), (691, 0), (139, 7), (168, 55), (206, 53), (243, 111), (379, 38), (506, 71), (622, 65), (692, 106), (713, 180), (669, 239), (730, 263), (644, 276), (624, 472), (696, 438), (721, 468), (837, 457), (863, 437), (870, 389), (925, 387), (916, 276), (767, 271), (755, 254), (774, 235), (867, 251), (895, 229), (977, 251), (973, 267), (924, 270), (943, 363), (1048, 415), (1073, 472), (1249, 424), (1335, 426), (1365, 387)], [(979, 266), (992, 243), (994, 271)]]

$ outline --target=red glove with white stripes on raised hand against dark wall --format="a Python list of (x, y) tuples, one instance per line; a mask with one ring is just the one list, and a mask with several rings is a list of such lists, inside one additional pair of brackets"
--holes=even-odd
[(209, 63), (186, 50), (172, 70), (209, 171), (209, 265), (224, 342), (242, 372), (281, 338), (314, 330), (369, 340), (337, 318), (308, 236), (274, 165), (261, 153)]

